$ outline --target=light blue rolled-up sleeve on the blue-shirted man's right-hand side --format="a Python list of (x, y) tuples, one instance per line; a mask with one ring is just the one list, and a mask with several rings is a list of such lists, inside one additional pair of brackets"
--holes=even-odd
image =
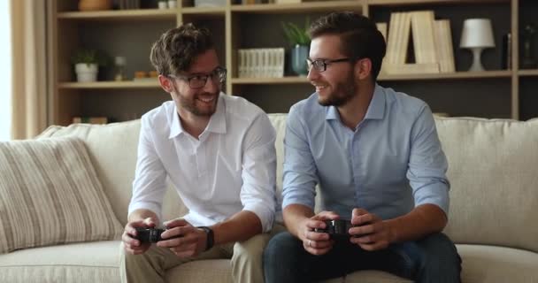
[(425, 105), (411, 129), (411, 156), (407, 179), (413, 191), (415, 206), (431, 203), (449, 215), (450, 182), (446, 177), (447, 158), (435, 128), (434, 116)]

